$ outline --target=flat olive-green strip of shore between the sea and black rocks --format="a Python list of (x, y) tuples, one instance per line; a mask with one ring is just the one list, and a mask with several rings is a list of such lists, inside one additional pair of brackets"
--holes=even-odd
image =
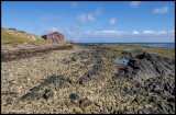
[(162, 47), (146, 47), (146, 46), (135, 46), (135, 45), (103, 45), (101, 47), (108, 47), (116, 50), (124, 50), (125, 48), (141, 49), (147, 53), (157, 54), (162, 56), (175, 57), (175, 49), (162, 48)]

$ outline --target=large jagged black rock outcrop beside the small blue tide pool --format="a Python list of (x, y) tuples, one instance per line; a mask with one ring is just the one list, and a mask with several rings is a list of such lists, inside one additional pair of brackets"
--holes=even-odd
[[(127, 55), (127, 54), (125, 54)], [(168, 57), (162, 57), (154, 54), (143, 53), (129, 59), (128, 66), (121, 68), (112, 79), (148, 79), (154, 77), (164, 77), (175, 72), (175, 60)]]

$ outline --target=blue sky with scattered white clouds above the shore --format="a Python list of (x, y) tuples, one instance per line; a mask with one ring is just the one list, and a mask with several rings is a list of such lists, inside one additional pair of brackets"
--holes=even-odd
[(175, 43), (175, 1), (2, 1), (1, 27), (80, 43)]

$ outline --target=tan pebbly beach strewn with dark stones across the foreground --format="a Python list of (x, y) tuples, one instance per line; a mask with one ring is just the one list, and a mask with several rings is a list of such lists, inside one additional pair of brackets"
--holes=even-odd
[[(15, 46), (14, 46), (15, 47)], [(1, 61), (2, 113), (175, 113), (175, 74), (112, 80), (118, 50), (74, 46)]]

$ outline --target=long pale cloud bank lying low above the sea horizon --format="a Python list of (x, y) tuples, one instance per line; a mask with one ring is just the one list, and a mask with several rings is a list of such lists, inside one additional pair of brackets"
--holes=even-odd
[[(172, 31), (173, 32), (173, 31)], [(145, 34), (144, 34), (145, 33)], [(175, 39), (175, 34), (170, 31), (144, 31), (144, 33), (133, 34), (119, 31), (85, 31), (77, 33), (68, 33), (69, 39), (77, 42), (89, 43), (172, 43)], [(146, 34), (154, 33), (154, 34)]]

